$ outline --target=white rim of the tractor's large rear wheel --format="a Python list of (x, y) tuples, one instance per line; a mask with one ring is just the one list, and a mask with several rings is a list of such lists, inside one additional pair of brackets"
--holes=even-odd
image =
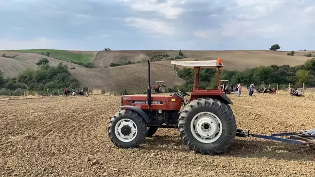
[(200, 112), (192, 118), (192, 135), (199, 142), (211, 143), (222, 134), (222, 123), (218, 116), (211, 112)]

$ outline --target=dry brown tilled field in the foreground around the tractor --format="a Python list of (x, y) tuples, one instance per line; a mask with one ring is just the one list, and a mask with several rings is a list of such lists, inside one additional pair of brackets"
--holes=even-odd
[[(315, 128), (312, 95), (229, 97), (238, 128), (268, 135)], [(0, 176), (315, 176), (315, 150), (262, 139), (236, 138), (224, 154), (203, 156), (176, 130), (159, 129), (138, 149), (118, 149), (107, 125), (119, 106), (119, 96), (0, 100)]]

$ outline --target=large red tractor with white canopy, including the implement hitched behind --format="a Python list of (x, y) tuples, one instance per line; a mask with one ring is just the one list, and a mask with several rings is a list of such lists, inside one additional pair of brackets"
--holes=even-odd
[[(314, 148), (315, 129), (271, 136), (250, 134), (249, 131), (237, 129), (234, 113), (229, 106), (232, 101), (221, 87), (220, 69), (223, 64), (220, 58), (171, 63), (194, 69), (192, 92), (177, 90), (171, 95), (151, 95), (148, 61), (147, 95), (121, 96), (121, 110), (110, 119), (108, 136), (117, 147), (135, 148), (144, 142), (146, 137), (153, 136), (158, 128), (177, 128), (182, 142), (200, 154), (220, 154), (227, 150), (236, 136), (310, 145)], [(204, 68), (217, 69), (218, 89), (199, 88), (200, 70)], [(186, 102), (185, 96), (190, 96)]]

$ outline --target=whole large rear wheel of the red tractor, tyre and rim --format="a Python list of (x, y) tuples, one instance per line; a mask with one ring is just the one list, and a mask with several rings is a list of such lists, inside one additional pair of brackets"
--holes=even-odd
[(193, 100), (179, 115), (180, 137), (195, 153), (217, 155), (224, 152), (234, 141), (236, 129), (232, 110), (217, 99)]

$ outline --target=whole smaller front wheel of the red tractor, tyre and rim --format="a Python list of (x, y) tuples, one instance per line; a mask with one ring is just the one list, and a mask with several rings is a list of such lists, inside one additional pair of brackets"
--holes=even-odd
[(142, 117), (132, 110), (121, 110), (110, 120), (108, 136), (117, 147), (135, 148), (145, 141), (147, 125)]

